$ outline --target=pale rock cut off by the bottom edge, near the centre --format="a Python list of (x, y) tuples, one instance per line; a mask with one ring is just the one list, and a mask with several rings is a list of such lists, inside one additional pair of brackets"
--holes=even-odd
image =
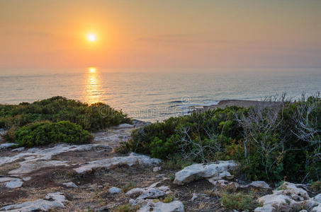
[(148, 202), (143, 205), (137, 212), (184, 212), (184, 204), (181, 201), (172, 201), (170, 203), (159, 202)]

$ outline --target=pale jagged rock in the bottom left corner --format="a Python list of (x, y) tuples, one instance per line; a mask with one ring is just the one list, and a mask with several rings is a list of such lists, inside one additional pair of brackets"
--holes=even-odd
[(63, 202), (67, 201), (60, 192), (47, 194), (45, 199), (26, 201), (21, 204), (13, 204), (0, 208), (1, 211), (25, 212), (25, 211), (48, 211), (52, 208), (64, 208)]

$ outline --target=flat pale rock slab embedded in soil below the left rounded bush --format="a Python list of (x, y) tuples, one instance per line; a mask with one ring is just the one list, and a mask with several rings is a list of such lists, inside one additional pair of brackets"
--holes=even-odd
[(22, 175), (22, 174), (28, 174), (30, 172), (33, 172), (35, 170), (40, 170), (43, 167), (52, 167), (52, 166), (59, 166), (64, 165), (67, 166), (67, 161), (60, 161), (60, 160), (49, 160), (49, 161), (38, 161), (37, 163), (30, 163), (26, 161), (23, 161), (20, 163), (20, 167), (16, 170), (11, 170), (9, 172), (10, 175)]

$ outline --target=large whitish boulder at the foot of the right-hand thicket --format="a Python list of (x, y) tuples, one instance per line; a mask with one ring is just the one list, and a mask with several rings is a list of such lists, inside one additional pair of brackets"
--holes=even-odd
[(210, 178), (218, 177), (221, 174), (230, 176), (230, 172), (228, 171), (235, 169), (235, 167), (237, 167), (237, 164), (232, 160), (218, 161), (218, 163), (206, 165), (202, 163), (193, 164), (176, 172), (174, 184), (186, 184), (192, 182), (195, 177)]

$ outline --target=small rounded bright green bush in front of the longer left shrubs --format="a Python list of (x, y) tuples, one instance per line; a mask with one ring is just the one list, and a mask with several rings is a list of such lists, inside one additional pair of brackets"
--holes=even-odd
[(57, 123), (36, 122), (22, 126), (13, 133), (17, 146), (33, 147), (49, 143), (90, 143), (93, 137), (78, 124), (68, 121)]

